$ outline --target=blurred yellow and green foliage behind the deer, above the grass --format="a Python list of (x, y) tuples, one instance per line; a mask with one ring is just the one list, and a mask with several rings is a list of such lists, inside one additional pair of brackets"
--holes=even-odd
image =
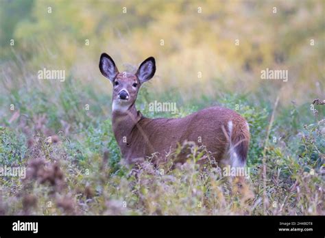
[[(283, 105), (324, 96), (322, 0), (0, 3), (2, 89), (42, 88), (55, 100), (69, 82), (38, 80), (38, 70), (47, 68), (110, 94), (98, 70), (99, 55), (106, 52), (120, 71), (154, 56), (157, 72), (149, 91), (176, 88), (185, 101), (224, 90), (274, 100), (283, 88)], [(289, 80), (262, 80), (265, 68), (288, 70)]]

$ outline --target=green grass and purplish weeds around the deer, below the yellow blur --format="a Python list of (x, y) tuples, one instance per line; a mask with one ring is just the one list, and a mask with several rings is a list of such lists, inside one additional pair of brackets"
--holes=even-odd
[[(176, 117), (210, 105), (238, 111), (250, 124), (248, 156), (254, 200), (243, 202), (219, 170), (190, 159), (174, 170), (128, 168), (112, 134), (108, 95), (71, 75), (64, 87), (6, 88), (0, 127), (3, 166), (27, 168), (26, 177), (1, 176), (4, 215), (324, 215), (323, 105), (274, 107), (252, 95), (224, 93), (182, 101), (172, 92), (141, 89), (137, 107), (176, 101)], [(53, 82), (45, 82), (53, 83)], [(48, 91), (46, 91), (48, 90)], [(176, 91), (176, 90), (175, 90)], [(174, 91), (174, 92), (175, 92)], [(87, 110), (85, 105), (89, 105)], [(107, 107), (107, 108), (106, 108)], [(137, 170), (137, 171), (135, 171)]]

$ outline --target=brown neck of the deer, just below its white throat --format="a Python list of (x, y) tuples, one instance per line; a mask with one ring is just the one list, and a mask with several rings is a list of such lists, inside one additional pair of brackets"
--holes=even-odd
[(136, 127), (136, 123), (138, 123), (141, 118), (142, 114), (140, 111), (136, 111), (135, 103), (127, 110), (121, 111), (113, 109), (112, 129), (121, 150), (130, 142), (132, 130)]

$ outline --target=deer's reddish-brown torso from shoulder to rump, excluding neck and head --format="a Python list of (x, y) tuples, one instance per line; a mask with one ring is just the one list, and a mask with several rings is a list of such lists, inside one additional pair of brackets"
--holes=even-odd
[(234, 129), (248, 130), (245, 119), (235, 111), (224, 107), (210, 107), (184, 118), (143, 118), (138, 122), (139, 127), (136, 127), (135, 134), (138, 138), (134, 139), (139, 142), (136, 147), (144, 156), (159, 153), (164, 158), (178, 144), (188, 141), (206, 146), (213, 153), (213, 157), (220, 160), (229, 144), (227, 137), (230, 121)]

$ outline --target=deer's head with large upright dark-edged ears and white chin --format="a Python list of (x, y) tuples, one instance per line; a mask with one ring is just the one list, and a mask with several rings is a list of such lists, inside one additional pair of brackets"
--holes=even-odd
[(130, 72), (119, 72), (110, 55), (102, 53), (99, 60), (99, 70), (112, 82), (113, 111), (126, 111), (136, 101), (142, 83), (154, 77), (156, 62), (154, 57), (145, 59), (134, 75)]

